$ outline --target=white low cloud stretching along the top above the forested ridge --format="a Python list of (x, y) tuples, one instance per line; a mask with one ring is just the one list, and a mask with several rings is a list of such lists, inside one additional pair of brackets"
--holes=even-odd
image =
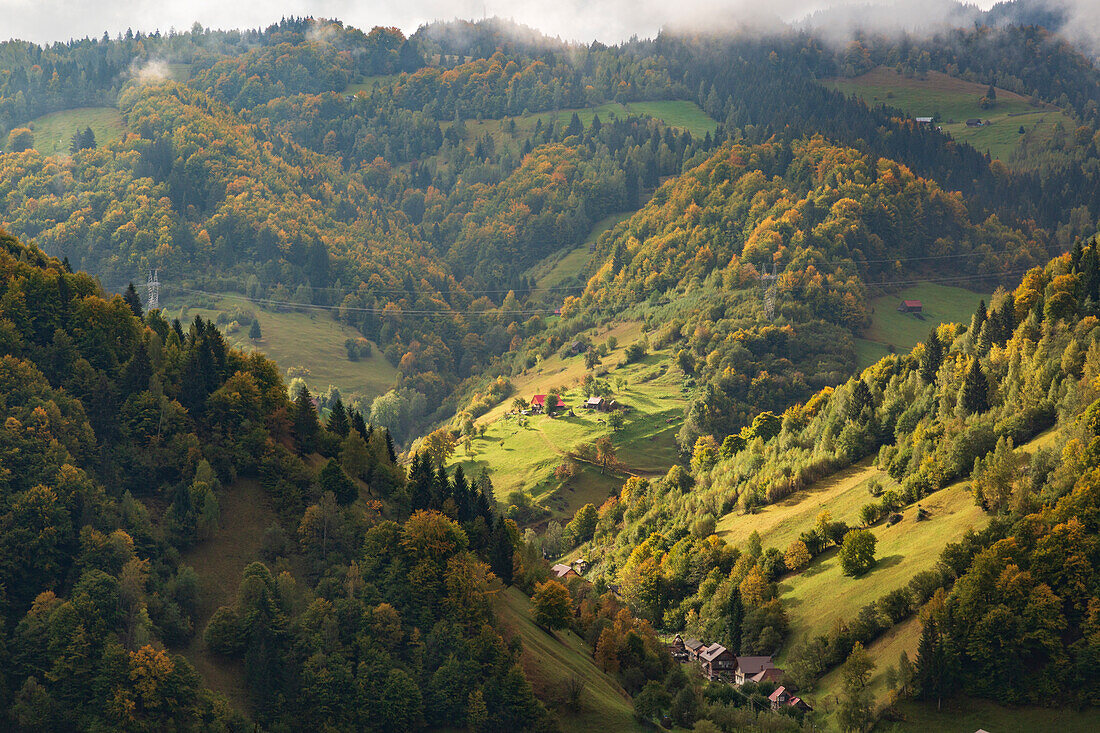
[[(0, 0), (0, 11), (3, 33), (40, 43), (98, 36), (105, 31), (113, 36), (128, 28), (186, 30), (195, 22), (208, 28), (262, 28), (280, 15), (336, 18), (363, 29), (396, 25), (406, 33), (432, 20), (497, 15), (566, 41), (616, 43), (631, 36), (649, 37), (662, 28), (761, 29), (804, 24), (807, 18), (812, 23), (814, 13), (826, 10), (831, 10), (828, 22), (815, 25), (838, 39), (856, 29), (920, 33), (938, 30), (944, 23), (958, 24), (968, 12), (988, 9), (994, 1), (979, 0), (968, 10), (952, 0), (285, 0), (278, 6), (261, 0)], [(1048, 2), (1068, 8), (1072, 22), (1067, 31), (1080, 37), (1092, 34), (1100, 23), (1100, 2), (1096, 0)]]

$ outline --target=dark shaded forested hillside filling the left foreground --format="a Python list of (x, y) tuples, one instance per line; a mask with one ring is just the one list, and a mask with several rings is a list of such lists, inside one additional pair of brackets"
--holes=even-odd
[[(274, 364), (212, 324), (143, 315), (132, 292), (108, 299), (37, 249), (0, 247), (9, 724), (550, 725), (491, 605), (502, 581), (544, 569), (514, 566), (521, 541), (487, 478), (426, 460), (406, 484), (384, 429), (342, 407), (322, 425), (308, 393), (292, 401)], [(235, 598), (200, 617), (227, 579), (180, 553), (219, 537), (220, 502), (248, 481), (277, 518), (233, 568)], [(180, 656), (196, 636), (243, 674), (243, 708)]]

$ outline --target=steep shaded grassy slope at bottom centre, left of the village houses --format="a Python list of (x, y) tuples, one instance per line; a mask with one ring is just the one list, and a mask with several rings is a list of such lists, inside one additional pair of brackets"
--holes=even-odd
[[(527, 679), (556, 713), (562, 731), (644, 730), (634, 719), (630, 698), (596, 667), (581, 637), (571, 631), (550, 634), (535, 625), (530, 603), (516, 588), (499, 592), (495, 608), (505, 635), (522, 642), (520, 663)], [(584, 687), (575, 707), (561, 702), (571, 677)]]

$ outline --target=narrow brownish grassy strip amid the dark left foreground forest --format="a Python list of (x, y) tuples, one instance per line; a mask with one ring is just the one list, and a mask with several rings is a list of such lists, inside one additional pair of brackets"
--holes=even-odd
[(213, 612), (232, 602), (241, 572), (260, 557), (264, 530), (275, 521), (275, 513), (254, 480), (242, 480), (226, 488), (218, 495), (218, 502), (221, 508), (218, 533), (183, 557), (184, 564), (195, 568), (200, 580), (195, 637), (184, 656), (210, 689), (224, 694), (238, 710), (248, 712), (243, 664), (211, 654), (202, 642), (202, 632)]

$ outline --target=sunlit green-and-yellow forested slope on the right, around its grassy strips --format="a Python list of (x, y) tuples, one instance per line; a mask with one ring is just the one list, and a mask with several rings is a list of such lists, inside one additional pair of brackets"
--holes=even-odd
[[(856, 644), (870, 646), (920, 613), (920, 646), (902, 667), (876, 659), (894, 666), (893, 694), (1049, 704), (1056, 690), (1074, 690), (1091, 704), (1097, 262), (1094, 243), (1078, 247), (1028, 271), (969, 325), (933, 330), (911, 353), (781, 416), (765, 413), (739, 433), (700, 438), (690, 473), (674, 468), (661, 480), (630, 480), (598, 511), (585, 546), (600, 558), (594, 576), (622, 583), (632, 608), (670, 631), (739, 654), (782, 652), (785, 679), (811, 699), (820, 676)], [(1056, 435), (1050, 447), (1013, 451), (1045, 430)], [(865, 457), (882, 478), (855, 521), (834, 518), (826, 504), (783, 545), (754, 533), (729, 547), (712, 534), (729, 515), (798, 503), (815, 482)], [(867, 565), (845, 565), (854, 578), (836, 582), (856, 595), (871, 587), (878, 600), (851, 608), (831, 628), (795, 625), (805, 616), (789, 606), (800, 573), (821, 572), (833, 547), (846, 562), (855, 537), (881, 534), (905, 507), (917, 507), (905, 522), (947, 522), (934, 508), (922, 515), (920, 505), (937, 505), (957, 482), (988, 515), (985, 529), (956, 525), (939, 560), (900, 587), (876, 586), (872, 540)], [(915, 541), (921, 530), (906, 532)]]

